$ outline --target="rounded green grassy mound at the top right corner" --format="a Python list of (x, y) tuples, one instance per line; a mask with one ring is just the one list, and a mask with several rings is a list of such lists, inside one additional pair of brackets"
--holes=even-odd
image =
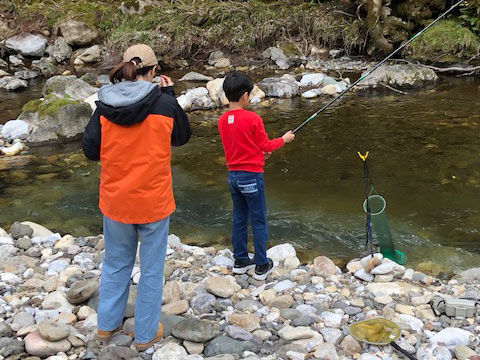
[(480, 40), (455, 20), (439, 22), (406, 49), (414, 60), (453, 63), (468, 60), (480, 53)]

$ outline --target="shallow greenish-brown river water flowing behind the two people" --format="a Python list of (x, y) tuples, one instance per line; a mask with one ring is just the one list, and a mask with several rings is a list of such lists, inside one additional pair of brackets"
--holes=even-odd
[[(303, 261), (320, 254), (341, 261), (363, 252), (357, 151), (369, 150), (395, 245), (410, 264), (436, 274), (480, 266), (479, 85), (474, 78), (443, 78), (408, 95), (359, 91), (319, 116), (266, 166), (270, 245), (293, 243)], [(2, 93), (0, 120), (14, 118), (22, 103), (38, 96), (39, 86)], [(271, 136), (280, 136), (327, 100), (277, 99), (252, 109)], [(174, 150), (178, 210), (171, 231), (188, 243), (224, 247), (231, 200), (216, 131), (220, 113), (191, 113), (196, 136)], [(30, 152), (35, 157), (28, 164), (0, 170), (0, 226), (31, 220), (76, 236), (100, 233), (99, 165), (83, 158), (78, 143)]]

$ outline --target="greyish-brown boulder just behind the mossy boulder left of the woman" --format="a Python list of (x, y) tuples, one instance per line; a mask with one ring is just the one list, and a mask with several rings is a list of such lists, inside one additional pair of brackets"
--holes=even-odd
[(97, 91), (97, 88), (78, 79), (75, 75), (54, 76), (45, 82), (43, 96), (54, 95), (83, 101)]

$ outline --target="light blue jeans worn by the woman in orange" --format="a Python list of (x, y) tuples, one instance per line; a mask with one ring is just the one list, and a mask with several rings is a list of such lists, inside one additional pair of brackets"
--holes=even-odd
[(104, 216), (105, 260), (102, 265), (98, 328), (112, 331), (123, 323), (140, 237), (140, 281), (135, 304), (135, 341), (157, 336), (162, 308), (163, 272), (170, 217), (149, 224), (124, 224)]

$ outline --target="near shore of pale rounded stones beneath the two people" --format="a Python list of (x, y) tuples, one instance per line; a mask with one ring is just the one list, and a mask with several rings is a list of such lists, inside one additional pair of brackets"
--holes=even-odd
[(228, 249), (183, 244), (170, 235), (164, 340), (132, 345), (138, 263), (120, 334), (95, 341), (101, 235), (74, 238), (31, 223), (0, 229), (0, 359), (397, 359), (390, 346), (361, 344), (348, 325), (375, 317), (402, 328), (398, 343), (420, 360), (477, 360), (480, 316), (436, 316), (434, 295), (480, 297), (480, 269), (450, 281), (406, 269), (380, 254), (343, 271), (320, 256), (301, 264), (290, 244), (268, 251), (266, 281), (232, 276)]

